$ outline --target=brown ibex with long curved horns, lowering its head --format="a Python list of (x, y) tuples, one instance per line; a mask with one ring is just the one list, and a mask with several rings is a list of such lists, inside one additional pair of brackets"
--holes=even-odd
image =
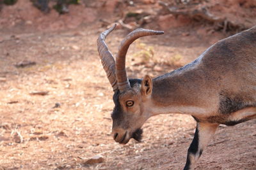
[(97, 40), (99, 57), (114, 91), (112, 135), (116, 142), (140, 141), (143, 123), (163, 113), (189, 114), (196, 120), (184, 169), (196, 161), (218, 125), (236, 125), (256, 118), (256, 27), (215, 43), (195, 61), (157, 78), (127, 79), (125, 55), (131, 43), (163, 31), (136, 29), (121, 42), (116, 59), (106, 36)]

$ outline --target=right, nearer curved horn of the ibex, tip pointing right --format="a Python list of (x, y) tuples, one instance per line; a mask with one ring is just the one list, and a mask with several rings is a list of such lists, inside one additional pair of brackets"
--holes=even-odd
[(163, 33), (163, 31), (136, 29), (128, 34), (121, 42), (116, 55), (116, 80), (120, 92), (124, 92), (125, 89), (129, 89), (131, 87), (125, 70), (125, 56), (131, 43), (143, 36), (160, 35)]

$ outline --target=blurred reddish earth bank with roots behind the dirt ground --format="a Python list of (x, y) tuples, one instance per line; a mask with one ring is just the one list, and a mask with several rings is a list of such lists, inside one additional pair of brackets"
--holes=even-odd
[(26, 26), (59, 30), (81, 24), (118, 22), (124, 29), (211, 25), (214, 31), (241, 31), (255, 25), (253, 0), (1, 0), (1, 28)]

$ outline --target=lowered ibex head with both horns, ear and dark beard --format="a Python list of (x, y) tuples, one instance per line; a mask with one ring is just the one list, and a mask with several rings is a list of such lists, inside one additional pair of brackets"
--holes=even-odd
[(131, 43), (136, 39), (142, 36), (159, 35), (164, 32), (147, 29), (132, 31), (121, 42), (115, 60), (105, 43), (106, 36), (115, 29), (115, 26), (113, 25), (100, 34), (97, 45), (102, 66), (114, 91), (115, 108), (111, 115), (113, 120), (112, 135), (116, 142), (126, 144), (131, 138), (137, 141), (141, 139), (141, 126), (151, 116), (147, 113), (147, 106), (150, 104), (153, 83), (148, 75), (143, 80), (128, 80), (125, 71), (125, 55)]

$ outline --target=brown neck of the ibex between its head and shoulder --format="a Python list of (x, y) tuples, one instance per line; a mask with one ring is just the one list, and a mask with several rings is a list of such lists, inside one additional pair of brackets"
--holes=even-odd
[(172, 73), (153, 80), (152, 114), (184, 113), (202, 115), (205, 113), (205, 74), (196, 67), (198, 60)]

